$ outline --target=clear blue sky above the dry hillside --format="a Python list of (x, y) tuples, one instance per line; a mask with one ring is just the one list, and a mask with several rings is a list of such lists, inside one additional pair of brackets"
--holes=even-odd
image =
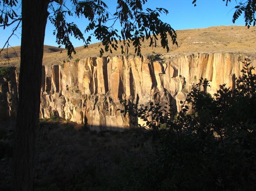
[[(241, 15), (235, 24), (232, 23), (233, 7), (236, 6), (235, 0), (232, 0), (228, 7), (226, 7), (226, 1), (223, 2), (222, 0), (197, 0), (196, 7), (194, 7), (192, 1), (193, 0), (148, 0), (144, 5), (144, 8), (155, 9), (157, 7), (167, 9), (169, 14), (167, 16), (161, 15), (160, 19), (169, 23), (175, 30), (206, 28), (221, 25), (245, 25), (243, 15)], [(114, 13), (116, 11), (116, 0), (105, 0), (104, 2), (107, 4), (109, 12)], [(85, 30), (88, 23), (85, 18), (72, 18), (72, 20), (69, 21), (76, 23), (81, 31)], [(0, 27), (0, 48), (3, 47), (13, 27), (10, 26), (5, 30)], [(119, 25), (116, 25), (116, 28), (120, 31)], [(53, 36), (53, 30), (54, 26), (48, 20), (44, 44), (58, 46), (55, 42), (55, 37)], [(21, 29), (19, 29), (16, 34), (17, 37), (13, 36), (9, 41), (11, 46), (20, 45)], [(95, 38), (92, 38), (92, 43), (94, 42), (98, 41)], [(72, 43), (74, 47), (83, 46), (82, 41), (74, 38), (72, 38)]]

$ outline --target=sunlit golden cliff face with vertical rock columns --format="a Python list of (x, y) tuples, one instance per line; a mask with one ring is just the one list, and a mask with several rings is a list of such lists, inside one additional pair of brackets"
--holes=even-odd
[[(245, 58), (235, 53), (197, 53), (156, 61), (150, 56), (114, 56), (108, 63), (102, 57), (43, 66), (40, 118), (53, 114), (97, 131), (122, 131), (131, 126), (129, 115), (117, 111), (124, 107), (122, 100), (144, 105), (168, 102), (179, 111), (179, 101), (201, 77), (209, 80), (211, 94), (219, 84), (235, 88)], [(256, 61), (252, 62), (255, 67)], [(0, 116), (5, 116), (0, 120), (16, 112), (18, 75), (13, 75), (10, 81), (0, 81)]]

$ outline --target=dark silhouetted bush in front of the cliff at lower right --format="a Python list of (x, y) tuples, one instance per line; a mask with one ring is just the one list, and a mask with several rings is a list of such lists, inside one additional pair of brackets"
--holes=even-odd
[[(208, 86), (207, 79), (200, 79), (186, 101), (181, 101), (182, 110), (174, 121), (171, 115), (175, 113), (162, 110), (159, 104), (150, 103), (149, 108), (126, 105), (130, 115), (147, 122), (150, 130), (143, 136), (151, 132), (155, 151), (133, 165), (136, 173), (127, 186), (161, 191), (254, 190), (256, 111), (252, 105), (256, 104), (256, 75), (249, 67), (250, 60), (243, 63), (235, 90), (220, 85), (212, 98), (200, 91), (201, 86)], [(188, 114), (188, 105), (196, 114)], [(169, 130), (158, 131), (161, 124)]]

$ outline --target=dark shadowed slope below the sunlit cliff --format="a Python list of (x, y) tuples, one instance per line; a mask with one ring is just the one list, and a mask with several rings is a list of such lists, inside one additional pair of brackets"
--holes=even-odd
[[(85, 184), (85, 190), (116, 189), (118, 179), (125, 178), (122, 164), (142, 157), (141, 150), (133, 147), (138, 141), (134, 135), (134, 130), (96, 133), (65, 120), (41, 120), (34, 160), (35, 190), (80, 190)], [(10, 186), (13, 133), (2, 129), (0, 139), (5, 144), (0, 155), (0, 190), (4, 191)]]

